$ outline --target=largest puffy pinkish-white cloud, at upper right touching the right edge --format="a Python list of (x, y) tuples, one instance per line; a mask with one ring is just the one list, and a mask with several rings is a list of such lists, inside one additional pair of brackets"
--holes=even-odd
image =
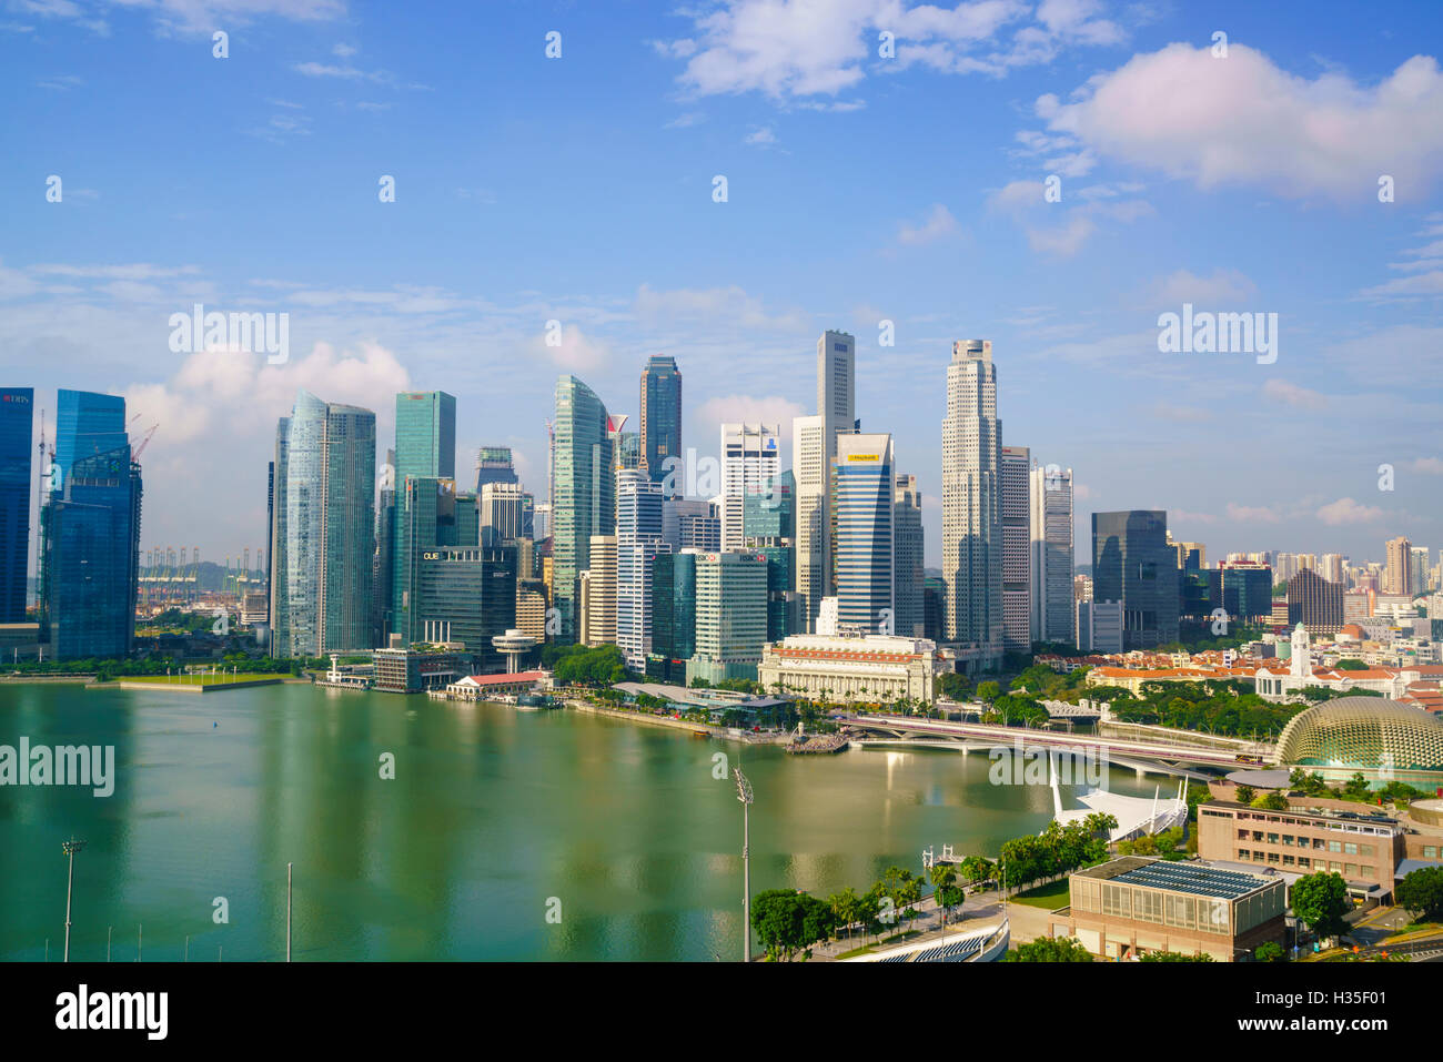
[(1401, 202), (1421, 199), (1443, 173), (1443, 74), (1424, 55), (1362, 85), (1336, 72), (1289, 74), (1247, 45), (1214, 58), (1211, 48), (1173, 43), (1078, 94), (1068, 104), (1038, 100), (1052, 133), (1203, 189), (1261, 185), (1287, 198), (1375, 203), (1388, 173)]

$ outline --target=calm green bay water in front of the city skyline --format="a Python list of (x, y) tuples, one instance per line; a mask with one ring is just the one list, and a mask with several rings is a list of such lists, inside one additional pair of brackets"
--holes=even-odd
[[(0, 687), (0, 745), (115, 746), (115, 791), (0, 786), (0, 958), (278, 960), (286, 863), (300, 960), (732, 960), (740, 807), (753, 890), (866, 887), (952, 844), (994, 856), (1051, 818), (983, 755), (791, 758), (574, 711), (261, 687), (201, 695)], [(380, 776), (394, 753), (395, 778)], [(1120, 792), (1157, 779), (1114, 771)], [(1167, 782), (1163, 784), (1165, 789)], [(212, 921), (224, 896), (229, 922)], [(560, 923), (547, 921), (560, 900)]]

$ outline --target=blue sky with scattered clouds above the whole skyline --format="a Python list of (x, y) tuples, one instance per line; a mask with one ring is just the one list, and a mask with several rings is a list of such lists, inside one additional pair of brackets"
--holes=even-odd
[[(722, 420), (812, 413), (841, 328), (935, 564), (945, 367), (987, 338), (1003, 442), (1075, 470), (1079, 561), (1092, 511), (1152, 506), (1214, 557), (1436, 551), (1440, 29), (1429, 3), (0, 0), (4, 382), (49, 417), (56, 387), (126, 394), (160, 424), (143, 545), (219, 558), (264, 541), (297, 387), (382, 442), (397, 390), (449, 390), (459, 475), (509, 443), (544, 493), (558, 372), (635, 421), (674, 355), (714, 455)], [(290, 359), (173, 354), (196, 302), (289, 313)], [(1185, 302), (1277, 313), (1277, 361), (1160, 354)]]

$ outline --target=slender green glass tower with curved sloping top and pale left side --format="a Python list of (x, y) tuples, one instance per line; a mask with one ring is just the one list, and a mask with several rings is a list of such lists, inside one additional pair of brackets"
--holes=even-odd
[(574, 642), (577, 580), (590, 566), (592, 535), (616, 527), (610, 418), (606, 405), (571, 375), (556, 381), (556, 443), (551, 449), (551, 605), (560, 618), (557, 639)]

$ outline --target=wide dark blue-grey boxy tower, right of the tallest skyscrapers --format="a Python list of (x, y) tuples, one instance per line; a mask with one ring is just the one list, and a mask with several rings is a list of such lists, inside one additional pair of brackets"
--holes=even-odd
[(1177, 641), (1177, 551), (1167, 543), (1166, 512), (1092, 514), (1092, 597), (1123, 603), (1124, 649)]

